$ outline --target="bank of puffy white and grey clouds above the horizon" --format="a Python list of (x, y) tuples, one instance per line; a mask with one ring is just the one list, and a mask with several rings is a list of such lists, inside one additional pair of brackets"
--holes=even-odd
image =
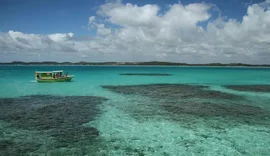
[(164, 12), (156, 4), (138, 6), (116, 0), (101, 5), (89, 17), (89, 29), (97, 33), (93, 38), (9, 31), (0, 33), (0, 56), (39, 54), (50, 59), (69, 52), (70, 59), (85, 61), (269, 63), (269, 4), (266, 0), (250, 5), (241, 20), (210, 21), (212, 4), (176, 3)]

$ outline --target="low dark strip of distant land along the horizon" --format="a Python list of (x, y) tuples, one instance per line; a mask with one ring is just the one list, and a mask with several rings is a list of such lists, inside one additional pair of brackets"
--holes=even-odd
[(209, 66), (209, 67), (270, 67), (270, 64), (243, 64), (243, 63), (207, 63), (207, 64), (187, 64), (175, 62), (0, 62), (0, 65), (14, 66)]

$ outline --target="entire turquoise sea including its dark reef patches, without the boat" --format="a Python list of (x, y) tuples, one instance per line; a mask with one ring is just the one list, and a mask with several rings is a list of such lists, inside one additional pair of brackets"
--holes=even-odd
[[(38, 83), (36, 70), (75, 77)], [(0, 155), (270, 153), (270, 68), (0, 66), (0, 74)]]

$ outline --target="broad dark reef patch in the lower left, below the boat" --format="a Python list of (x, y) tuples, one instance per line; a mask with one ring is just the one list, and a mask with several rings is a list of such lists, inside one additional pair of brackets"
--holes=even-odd
[[(106, 100), (95, 96), (51, 95), (1, 98), (0, 120), (17, 129), (37, 131), (53, 137), (56, 141), (54, 147), (73, 146), (80, 141), (94, 140), (99, 135), (97, 129), (83, 124), (94, 120), (100, 112), (98, 105)], [(17, 145), (10, 140), (0, 140), (4, 153), (20, 151), (19, 147), (31, 152), (39, 146)]]

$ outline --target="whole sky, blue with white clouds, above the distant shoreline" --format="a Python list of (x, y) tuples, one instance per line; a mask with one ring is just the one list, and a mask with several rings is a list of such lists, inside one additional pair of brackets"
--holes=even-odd
[(270, 0), (0, 0), (0, 62), (270, 64)]

